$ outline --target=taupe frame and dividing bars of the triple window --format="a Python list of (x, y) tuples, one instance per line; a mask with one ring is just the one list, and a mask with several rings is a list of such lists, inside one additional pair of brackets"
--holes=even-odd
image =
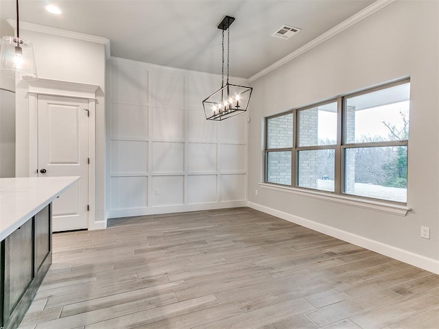
[[(263, 161), (263, 183), (270, 184), (274, 186), (279, 186), (282, 188), (294, 188), (298, 189), (298, 191), (304, 191), (304, 192), (310, 192), (310, 193), (323, 193), (323, 194), (329, 194), (333, 196), (343, 196), (343, 197), (350, 197), (355, 199), (364, 199), (368, 200), (370, 202), (381, 202), (384, 204), (394, 204), (398, 206), (406, 206), (406, 202), (397, 202), (392, 201), (388, 199), (379, 199), (375, 197), (365, 197), (361, 195), (354, 195), (350, 193), (345, 192), (345, 151), (346, 149), (355, 149), (355, 148), (364, 148), (364, 147), (398, 147), (398, 146), (405, 146), (407, 147), (407, 159), (409, 154), (409, 147), (408, 142), (410, 139), (404, 139), (404, 140), (396, 140), (396, 141), (379, 141), (379, 142), (365, 142), (365, 143), (346, 143), (346, 103), (348, 99), (351, 99), (353, 97), (357, 97), (360, 95), (366, 95), (369, 93), (375, 93), (379, 90), (384, 90), (388, 88), (392, 88), (394, 86), (400, 86), (403, 84), (410, 84), (410, 77), (406, 77), (401, 80), (396, 80), (394, 82), (381, 84), (380, 86), (372, 87), (372, 88), (366, 88), (364, 90), (361, 90), (359, 92), (355, 93), (349, 93), (346, 95), (340, 95), (338, 97), (334, 97), (331, 99), (327, 99), (325, 101), (320, 101), (318, 103), (313, 103), (309, 106), (303, 106), (298, 108), (293, 108), (291, 110), (287, 110), (285, 112), (277, 113), (274, 115), (271, 115), (269, 117), (265, 117), (265, 133), (264, 133), (264, 161)], [(313, 145), (313, 146), (298, 146), (299, 142), (299, 112), (303, 110), (309, 110), (310, 108), (316, 108), (319, 106), (324, 106), (329, 103), (337, 102), (337, 143), (335, 145)], [(284, 147), (284, 148), (271, 148), (269, 149), (268, 146), (268, 120), (276, 118), (276, 117), (283, 117), (287, 114), (293, 115), (293, 141), (292, 141), (292, 147)], [(410, 121), (409, 121), (410, 126)], [(409, 128), (410, 129), (410, 128)], [(335, 168), (334, 168), (334, 191), (325, 191), (325, 190), (319, 190), (318, 188), (308, 188), (308, 187), (302, 187), (298, 186), (298, 152), (299, 151), (307, 151), (307, 150), (314, 150), (314, 149), (334, 149), (335, 150)], [(270, 152), (274, 151), (290, 151), (292, 156), (292, 164), (291, 164), (291, 184), (281, 184), (276, 182), (270, 182), (268, 181), (268, 154)], [(407, 183), (408, 183), (408, 167), (409, 163), (407, 160)], [(408, 184), (407, 188), (408, 189)]]

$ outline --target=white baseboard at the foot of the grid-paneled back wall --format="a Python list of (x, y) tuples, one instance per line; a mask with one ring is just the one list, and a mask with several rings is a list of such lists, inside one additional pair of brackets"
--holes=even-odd
[(188, 212), (199, 210), (223, 209), (223, 208), (237, 208), (246, 207), (247, 202), (230, 201), (230, 202), (213, 202), (211, 204), (184, 204), (176, 206), (159, 206), (159, 207), (145, 207), (145, 208), (130, 208), (130, 209), (113, 209), (108, 210), (108, 219), (119, 217), (133, 217), (133, 216), (147, 216), (159, 214), (171, 214), (173, 212)]

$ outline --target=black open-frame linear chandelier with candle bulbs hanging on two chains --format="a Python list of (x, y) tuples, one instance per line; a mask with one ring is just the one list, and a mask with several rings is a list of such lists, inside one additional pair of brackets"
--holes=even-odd
[[(252, 88), (228, 83), (229, 53), (230, 53), (230, 24), (235, 18), (226, 16), (218, 25), (222, 29), (222, 80), (221, 88), (204, 99), (203, 108), (207, 120), (220, 121), (246, 112), (252, 95)], [(224, 84), (224, 31), (227, 31), (227, 80)]]

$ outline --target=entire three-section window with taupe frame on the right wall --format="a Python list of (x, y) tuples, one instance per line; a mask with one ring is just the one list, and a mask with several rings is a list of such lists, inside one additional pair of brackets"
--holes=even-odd
[(265, 182), (407, 202), (410, 80), (265, 120)]

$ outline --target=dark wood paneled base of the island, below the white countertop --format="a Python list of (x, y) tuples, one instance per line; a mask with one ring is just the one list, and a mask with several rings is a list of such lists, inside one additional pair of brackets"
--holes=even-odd
[(51, 264), (51, 204), (0, 247), (0, 328), (19, 326)]

